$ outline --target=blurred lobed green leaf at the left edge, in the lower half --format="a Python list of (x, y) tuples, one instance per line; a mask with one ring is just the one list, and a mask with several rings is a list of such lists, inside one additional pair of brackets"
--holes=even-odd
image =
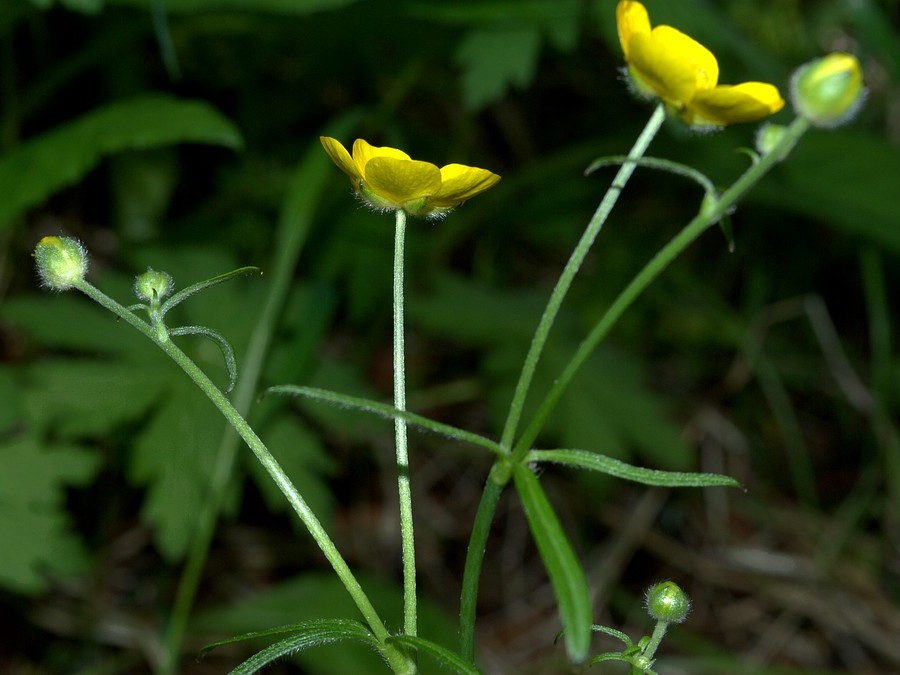
[(31, 435), (0, 444), (0, 585), (39, 593), (48, 577), (88, 568), (89, 554), (66, 514), (64, 489), (86, 485), (98, 460), (88, 450), (45, 446)]

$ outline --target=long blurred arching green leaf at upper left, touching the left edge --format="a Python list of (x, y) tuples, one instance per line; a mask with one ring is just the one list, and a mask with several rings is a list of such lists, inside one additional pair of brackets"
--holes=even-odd
[(0, 231), (78, 182), (105, 156), (173, 143), (241, 146), (237, 128), (201, 101), (147, 94), (111, 103), (25, 141), (0, 157)]

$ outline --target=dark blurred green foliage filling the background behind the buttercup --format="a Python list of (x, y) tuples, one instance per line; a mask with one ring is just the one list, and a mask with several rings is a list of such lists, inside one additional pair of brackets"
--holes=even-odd
[[(891, 337), (900, 281), (900, 5), (646, 4), (654, 23), (676, 25), (709, 46), (724, 82), (786, 88), (796, 66), (844, 49), (860, 56), (869, 100), (851, 128), (808, 134), (758, 186), (733, 216), (734, 254), (709, 234), (651, 288), (579, 375), (541, 443), (693, 469), (697, 448), (714, 435), (704, 420), (725, 419), (739, 440), (723, 442), (724, 467), (712, 470), (741, 474), (757, 514), (783, 503), (819, 509), (826, 522), (835, 514), (846, 547), (863, 551), (865, 568), (896, 602), (900, 583), (885, 570), (891, 559), (896, 564), (900, 531), (892, 422), (900, 368)], [(348, 198), (336, 170), (321, 197), (307, 195), (291, 184), (295, 166), (330, 121), (351, 112), (356, 135), (373, 143), (436, 164), (489, 168), (503, 175), (497, 188), (445, 221), (410, 227), (408, 377), (411, 409), (496, 436), (541, 307), (606, 188), (604, 172), (581, 173), (598, 156), (626, 151), (650, 113), (621, 82), (614, 5), (0, 5), (0, 603), (16, 626), (0, 642), (0, 670), (145, 672), (135, 654), (154, 659), (146, 644), (155, 644), (171, 605), (225, 429), (181, 373), (128, 327), (83, 297), (41, 293), (31, 269), (35, 242), (46, 234), (79, 237), (93, 255), (92, 282), (128, 304), (130, 277), (147, 266), (170, 272), (178, 287), (238, 265), (265, 269), (276, 257), (285, 201), (316, 199), (304, 204), (316, 224), (260, 385), (387, 398), (390, 223)], [(776, 120), (789, 118), (786, 110)], [(697, 136), (672, 123), (650, 154), (727, 185), (747, 161), (735, 149), (750, 146), (752, 134), (736, 127)], [(700, 197), (681, 179), (638, 171), (564, 307), (537, 394)], [(240, 366), (267, 290), (265, 276), (217, 288), (180, 306), (179, 322), (227, 336)], [(824, 303), (824, 317), (795, 302), (809, 297)], [(829, 327), (836, 343), (823, 338)], [(215, 345), (179, 340), (225, 381)], [(390, 425), (268, 400), (254, 406), (251, 421), (339, 544), (353, 551), (352, 563), (380, 577), (373, 583), (385, 584), (387, 596), (396, 594), (394, 549), (363, 545), (383, 544), (371, 519), (392, 514), (379, 479)], [(466, 477), (483, 480), (486, 457), (429, 436), (414, 443), (414, 468), (449, 472), (427, 483), (435, 501), (452, 500)], [(255, 463), (242, 466), (208, 564), (200, 603), (209, 613), (196, 624), (198, 635), (267, 627), (254, 619), (263, 600), (245, 600), (258, 590), (290, 599), (289, 609), (341, 596), (337, 589), (328, 595), (322, 580), (294, 578), (321, 566), (317, 551), (273, 515), (283, 504)], [(591, 557), (598, 538), (610, 534), (597, 529), (593, 514), (633, 488), (594, 476), (578, 477), (573, 488), (570, 475), (548, 474), (566, 527)], [(675, 520), (691, 508), (691, 497), (679, 499)], [(425, 592), (442, 607), (435, 614), (444, 612), (436, 619), (442, 628), (427, 637), (438, 642), (447, 630), (440, 622), (456, 611), (458, 590), (450, 586), (473, 510), (471, 500), (452, 505), (463, 523), (452, 526), (432, 520), (434, 507), (422, 512)], [(765, 516), (742, 517), (766, 526)], [(106, 583), (110, 575), (115, 584)], [(632, 581), (640, 587), (646, 579)], [(304, 596), (310, 588), (325, 595)], [(385, 603), (394, 601), (387, 596)], [(496, 600), (489, 590), (487, 606)], [(213, 609), (221, 604), (232, 605), (230, 613)], [(273, 623), (306, 616), (278, 611)], [(141, 628), (110, 638), (103, 629), (123, 614), (124, 625)], [(489, 642), (496, 648), (503, 640)], [(686, 658), (699, 659), (689, 669), (706, 672), (698, 663), (709, 650), (683, 644)], [(900, 667), (866, 649), (880, 668)], [(351, 667), (323, 659), (306, 667)], [(825, 666), (839, 668), (839, 661)], [(329, 662), (331, 670), (322, 665)], [(190, 654), (183, 665), (193, 672)]]

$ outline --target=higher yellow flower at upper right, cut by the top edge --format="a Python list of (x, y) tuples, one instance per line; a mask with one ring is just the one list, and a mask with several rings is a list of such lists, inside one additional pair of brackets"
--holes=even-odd
[(671, 26), (651, 29), (650, 16), (641, 3), (620, 0), (616, 23), (635, 87), (642, 94), (662, 99), (688, 124), (752, 122), (784, 107), (774, 85), (718, 84), (719, 64), (713, 53)]

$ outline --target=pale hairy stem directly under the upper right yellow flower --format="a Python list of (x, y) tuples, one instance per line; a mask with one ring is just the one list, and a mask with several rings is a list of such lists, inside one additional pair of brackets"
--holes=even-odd
[[(656, 110), (653, 111), (653, 114), (647, 121), (647, 125), (644, 127), (641, 135), (638, 136), (637, 141), (635, 141), (634, 146), (628, 153), (628, 159), (639, 159), (644, 156), (647, 147), (650, 145), (653, 137), (656, 136), (656, 132), (659, 131), (665, 118), (665, 107), (660, 104), (656, 107)], [(634, 173), (635, 167), (636, 164), (634, 162), (628, 161), (624, 162), (622, 166), (619, 167), (619, 171), (616, 173), (612, 185), (610, 185), (606, 194), (603, 196), (603, 200), (594, 212), (594, 216), (585, 228), (584, 234), (581, 236), (575, 250), (572, 251), (572, 255), (569, 257), (569, 261), (566, 263), (562, 274), (560, 274), (559, 281), (556, 282), (556, 287), (550, 295), (550, 300), (547, 302), (547, 307), (544, 309), (544, 314), (541, 317), (538, 327), (534, 332), (534, 337), (531, 340), (531, 347), (525, 357), (525, 363), (522, 365), (519, 381), (516, 383), (516, 390), (513, 394), (512, 403), (509, 407), (509, 414), (506, 417), (506, 425), (503, 428), (503, 436), (500, 440), (500, 445), (504, 448), (512, 447), (516, 429), (522, 416), (522, 409), (525, 407), (528, 389), (531, 386), (531, 380), (534, 377), (534, 371), (541, 358), (541, 352), (544, 350), (544, 345), (547, 342), (550, 329), (553, 328), (553, 322), (556, 320), (556, 315), (559, 313), (559, 309), (566, 297), (566, 293), (568, 293), (569, 287), (572, 285), (572, 280), (581, 268), (585, 256), (587, 256), (594, 240), (600, 233), (600, 228), (603, 227), (603, 224), (612, 212), (613, 207), (616, 205), (616, 201), (619, 199), (622, 189), (625, 187), (628, 179), (631, 178), (631, 174)]]

